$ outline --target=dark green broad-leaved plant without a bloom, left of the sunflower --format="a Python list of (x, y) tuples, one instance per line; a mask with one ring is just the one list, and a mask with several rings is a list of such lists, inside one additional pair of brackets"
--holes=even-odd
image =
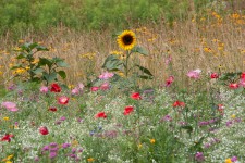
[(40, 46), (38, 43), (25, 42), (19, 49), (16, 60), (20, 63), (15, 64), (11, 68), (15, 71), (14, 77), (20, 77), (27, 82), (46, 82), (50, 84), (58, 80), (58, 75), (64, 79), (66, 74), (64, 71), (59, 70), (60, 67), (66, 67), (68, 64), (63, 59), (60, 58), (40, 58), (37, 60), (35, 53), (39, 51), (48, 51), (48, 48)]

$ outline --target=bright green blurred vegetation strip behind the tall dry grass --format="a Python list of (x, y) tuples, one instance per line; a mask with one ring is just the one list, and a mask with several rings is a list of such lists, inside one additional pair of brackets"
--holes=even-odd
[[(195, 0), (196, 12), (201, 12), (208, 0)], [(16, 34), (27, 29), (46, 30), (64, 25), (75, 29), (128, 28), (133, 24), (158, 23), (162, 17), (170, 24), (188, 15), (188, 0), (2, 0), (0, 30)]]

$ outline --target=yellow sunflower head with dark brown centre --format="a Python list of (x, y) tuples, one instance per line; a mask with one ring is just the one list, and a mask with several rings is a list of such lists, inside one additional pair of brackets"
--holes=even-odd
[(121, 35), (118, 36), (118, 43), (124, 50), (131, 50), (136, 43), (136, 37), (134, 32), (124, 30)]

